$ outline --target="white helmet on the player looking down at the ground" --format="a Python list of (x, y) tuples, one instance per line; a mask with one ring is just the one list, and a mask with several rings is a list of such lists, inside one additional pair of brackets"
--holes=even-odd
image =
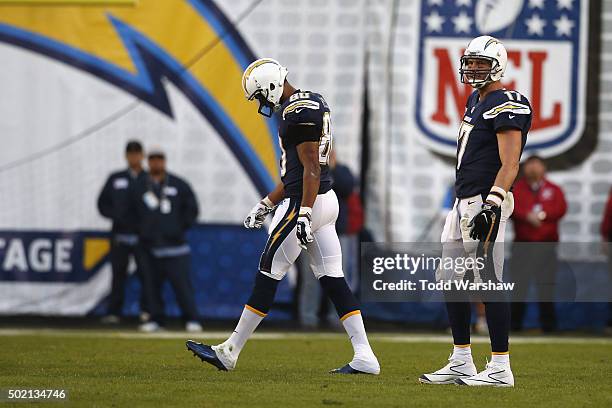
[[(259, 101), (258, 112), (270, 117), (280, 107), (287, 68), (272, 58), (260, 58), (242, 74), (242, 89), (249, 101)], [(264, 109), (267, 108), (267, 109)]]

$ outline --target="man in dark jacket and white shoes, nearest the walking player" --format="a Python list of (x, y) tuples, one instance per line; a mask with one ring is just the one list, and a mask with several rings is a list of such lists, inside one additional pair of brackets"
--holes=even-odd
[(166, 171), (164, 152), (149, 152), (149, 174), (134, 184), (131, 214), (138, 225), (145, 296), (151, 318), (141, 331), (163, 325), (162, 285), (168, 279), (186, 321), (186, 330), (202, 330), (190, 280), (191, 257), (186, 232), (198, 217), (198, 202), (189, 184)]

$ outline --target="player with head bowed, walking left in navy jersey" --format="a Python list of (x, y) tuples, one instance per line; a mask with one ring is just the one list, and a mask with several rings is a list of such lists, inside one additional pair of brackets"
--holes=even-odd
[(329, 107), (321, 95), (295, 89), (286, 77), (287, 69), (269, 58), (253, 62), (242, 77), (245, 95), (259, 102), (259, 113), (269, 117), (277, 112), (281, 149), (281, 183), (244, 221), (247, 228), (260, 228), (274, 211), (255, 287), (225, 342), (208, 346), (189, 340), (187, 348), (220, 370), (234, 369), (246, 341), (270, 310), (278, 283), (304, 249), (353, 345), (351, 362), (331, 372), (379, 374), (357, 299), (342, 271), (335, 229), (338, 199), (331, 189), (329, 171), (333, 148)]

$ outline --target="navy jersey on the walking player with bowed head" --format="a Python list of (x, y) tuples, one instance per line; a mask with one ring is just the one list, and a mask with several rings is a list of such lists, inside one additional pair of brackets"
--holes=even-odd
[(303, 142), (319, 143), (319, 194), (328, 192), (332, 185), (329, 171), (332, 135), (327, 102), (317, 93), (298, 90), (281, 105), (279, 114), (280, 172), (285, 196), (302, 196), (304, 166), (298, 157), (297, 146)]

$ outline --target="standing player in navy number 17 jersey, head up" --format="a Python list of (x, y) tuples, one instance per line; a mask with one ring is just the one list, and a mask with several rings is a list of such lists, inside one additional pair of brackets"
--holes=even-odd
[[(506, 49), (490, 36), (473, 39), (461, 57), (461, 82), (469, 83), (476, 90), (467, 100), (459, 128), (457, 198), (446, 218), (441, 241), (443, 251), (446, 248), (447, 253), (460, 251), (464, 255), (476, 255), (484, 259), (481, 264), (484, 267), (475, 267), (471, 276), (438, 269), (439, 280), (502, 280), (504, 233), (514, 209), (510, 190), (518, 174), (532, 116), (527, 98), (504, 89), (500, 83), (506, 63)], [(508, 353), (509, 303), (490, 297), (484, 301), (492, 357), (485, 370), (477, 373), (470, 349), (469, 299), (446, 295), (453, 352), (445, 367), (424, 374), (419, 380), (427, 384), (513, 387)]]

